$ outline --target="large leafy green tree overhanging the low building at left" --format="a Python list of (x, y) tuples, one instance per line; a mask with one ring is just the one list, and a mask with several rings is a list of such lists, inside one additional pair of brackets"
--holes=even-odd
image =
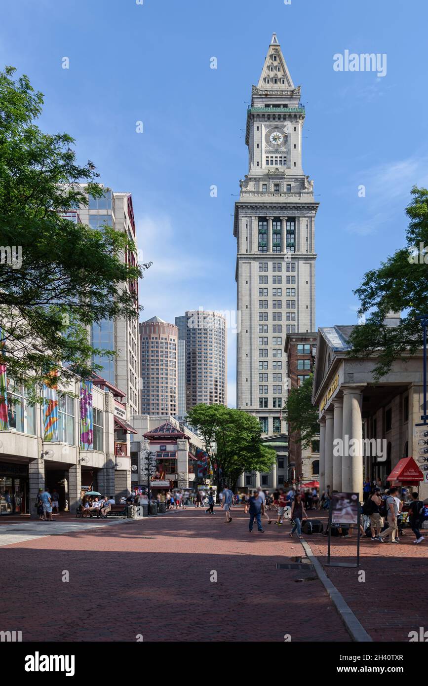
[[(110, 226), (94, 230), (64, 213), (87, 204), (86, 193), (102, 197), (93, 163), (79, 165), (65, 133), (36, 126), (43, 95), (15, 69), (0, 72), (0, 322), (3, 360), (18, 383), (43, 381), (67, 361), (61, 377), (89, 377), (97, 369), (87, 327), (103, 319), (136, 317), (138, 303), (123, 288), (142, 267), (123, 263), (135, 246)], [(83, 185), (81, 185), (83, 184)], [(5, 263), (7, 250), (21, 250)], [(12, 250), (13, 254), (17, 250)]]

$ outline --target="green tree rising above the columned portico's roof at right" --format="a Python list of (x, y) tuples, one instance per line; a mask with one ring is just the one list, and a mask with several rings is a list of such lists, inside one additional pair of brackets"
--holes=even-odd
[[(350, 333), (352, 349), (348, 356), (375, 355), (377, 381), (388, 374), (396, 359), (416, 353), (423, 344), (417, 317), (428, 314), (428, 191), (414, 186), (412, 196), (405, 210), (410, 220), (405, 247), (396, 250), (378, 269), (366, 272), (355, 291), (360, 300), (359, 315), (370, 314)], [(383, 323), (391, 311), (404, 314), (397, 327)]]

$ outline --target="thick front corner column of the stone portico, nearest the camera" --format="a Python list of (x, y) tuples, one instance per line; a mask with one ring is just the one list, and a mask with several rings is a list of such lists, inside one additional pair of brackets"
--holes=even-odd
[[(363, 447), (362, 447), (362, 386), (342, 386), (343, 436), (342, 489), (344, 493), (359, 493), (363, 499)], [(350, 441), (354, 439), (353, 443)], [(357, 439), (357, 440), (355, 440)]]

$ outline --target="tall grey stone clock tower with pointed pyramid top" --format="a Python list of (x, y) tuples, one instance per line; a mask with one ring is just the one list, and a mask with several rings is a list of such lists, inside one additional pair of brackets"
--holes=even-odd
[[(263, 437), (287, 445), (287, 333), (315, 329), (313, 181), (302, 169), (305, 108), (273, 34), (246, 123), (248, 174), (239, 182), (237, 239), (237, 407), (259, 417)], [(310, 370), (302, 370), (302, 376)], [(284, 450), (286, 452), (286, 449)], [(285, 464), (287, 464), (286, 455)], [(286, 467), (285, 467), (286, 469)], [(245, 479), (243, 475), (241, 479)], [(260, 475), (257, 479), (260, 482)], [(265, 481), (265, 479), (264, 479)], [(250, 483), (241, 483), (241, 486)], [(252, 486), (259, 485), (254, 483)], [(267, 488), (278, 485), (276, 468)]]

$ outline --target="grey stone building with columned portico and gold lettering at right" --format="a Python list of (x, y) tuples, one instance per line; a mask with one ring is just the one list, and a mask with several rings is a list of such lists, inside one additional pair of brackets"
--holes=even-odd
[[(388, 316), (385, 323), (394, 326)], [(427, 463), (420, 456), (418, 423), (423, 414), (423, 351), (403, 355), (380, 381), (373, 378), (376, 357), (348, 357), (353, 326), (318, 330), (313, 404), (320, 422), (320, 490), (359, 493), (364, 477), (383, 486), (401, 458), (412, 456), (423, 472), (420, 499), (428, 497)], [(423, 429), (423, 427), (422, 427)], [(333, 451), (340, 439), (343, 449)]]

